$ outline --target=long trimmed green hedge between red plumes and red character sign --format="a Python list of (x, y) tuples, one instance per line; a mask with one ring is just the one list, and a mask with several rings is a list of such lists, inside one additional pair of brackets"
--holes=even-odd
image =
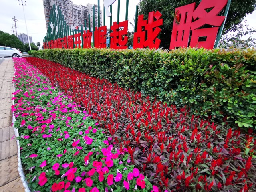
[[(34, 57), (256, 129), (256, 49), (46, 49)], [(231, 117), (231, 118), (230, 118)]]

